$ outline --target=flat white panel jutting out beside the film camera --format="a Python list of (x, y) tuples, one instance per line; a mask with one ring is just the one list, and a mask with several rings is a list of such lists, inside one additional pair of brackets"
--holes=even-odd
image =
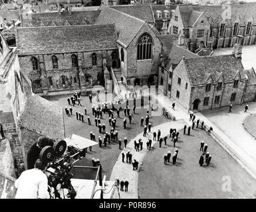
[(64, 140), (66, 141), (67, 146), (74, 146), (80, 150), (98, 144), (98, 142), (78, 136), (77, 134), (72, 134), (71, 138), (65, 138)]

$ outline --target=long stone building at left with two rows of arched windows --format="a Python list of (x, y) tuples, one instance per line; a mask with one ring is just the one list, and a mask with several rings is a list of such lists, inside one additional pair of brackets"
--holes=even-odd
[(118, 67), (114, 25), (23, 27), (17, 30), (20, 66), (33, 91), (104, 85), (104, 66)]

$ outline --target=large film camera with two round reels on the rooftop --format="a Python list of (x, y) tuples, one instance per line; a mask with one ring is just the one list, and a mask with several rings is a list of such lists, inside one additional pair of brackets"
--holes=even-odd
[[(51, 198), (62, 199), (64, 191), (66, 197), (74, 199), (76, 191), (71, 185), (71, 173), (73, 164), (85, 157), (85, 149), (80, 150), (74, 146), (67, 146), (65, 140), (55, 142), (52, 146), (45, 146), (39, 158), (43, 163), (47, 164), (45, 174), (48, 178), (49, 193)], [(61, 195), (63, 194), (63, 196)]]

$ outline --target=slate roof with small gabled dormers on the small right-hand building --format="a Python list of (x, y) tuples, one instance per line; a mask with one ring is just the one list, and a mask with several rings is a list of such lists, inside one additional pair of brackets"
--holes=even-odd
[(247, 79), (241, 60), (232, 54), (184, 58), (183, 61), (192, 85), (205, 83), (210, 75), (213, 81), (217, 81), (221, 74), (223, 74), (224, 81), (232, 81), (237, 72), (241, 79)]

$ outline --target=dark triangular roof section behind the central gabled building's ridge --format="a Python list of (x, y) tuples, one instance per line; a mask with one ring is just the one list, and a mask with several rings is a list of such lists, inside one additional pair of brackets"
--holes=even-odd
[(154, 14), (152, 13), (150, 5), (118, 5), (110, 7), (146, 21), (147, 23), (154, 23)]

